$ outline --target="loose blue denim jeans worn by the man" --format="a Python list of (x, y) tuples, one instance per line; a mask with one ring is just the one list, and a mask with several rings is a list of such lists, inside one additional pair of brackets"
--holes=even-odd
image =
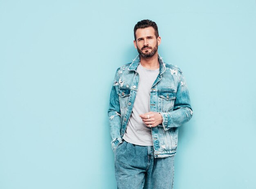
[[(154, 158), (153, 146), (124, 141), (115, 149), (118, 189), (172, 189), (174, 156)], [(146, 181), (146, 182), (145, 182)]]

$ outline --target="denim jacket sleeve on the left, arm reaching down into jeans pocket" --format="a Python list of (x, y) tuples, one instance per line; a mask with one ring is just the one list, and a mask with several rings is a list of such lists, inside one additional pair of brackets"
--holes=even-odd
[(112, 138), (111, 146), (113, 151), (117, 145), (122, 143), (121, 140), (121, 111), (119, 103), (118, 92), (118, 81), (119, 81), (119, 69), (117, 69), (115, 74), (114, 83), (110, 93), (110, 103), (108, 108), (108, 118), (110, 125), (110, 136)]

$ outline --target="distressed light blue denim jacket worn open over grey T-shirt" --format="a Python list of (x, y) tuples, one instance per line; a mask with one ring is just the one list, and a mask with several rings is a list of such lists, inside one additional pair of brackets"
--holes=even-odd
[[(155, 158), (176, 154), (178, 127), (192, 117), (189, 91), (180, 68), (165, 64), (158, 55), (159, 75), (150, 89), (150, 111), (160, 112), (163, 122), (151, 127)], [(110, 94), (108, 117), (112, 149), (123, 142), (139, 86), (140, 56), (117, 69)], [(142, 112), (146, 113), (146, 112)]]

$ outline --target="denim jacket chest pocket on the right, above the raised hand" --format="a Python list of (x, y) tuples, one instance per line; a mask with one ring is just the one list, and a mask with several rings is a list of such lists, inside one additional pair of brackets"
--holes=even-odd
[(159, 110), (162, 112), (169, 112), (174, 105), (176, 92), (159, 91)]

